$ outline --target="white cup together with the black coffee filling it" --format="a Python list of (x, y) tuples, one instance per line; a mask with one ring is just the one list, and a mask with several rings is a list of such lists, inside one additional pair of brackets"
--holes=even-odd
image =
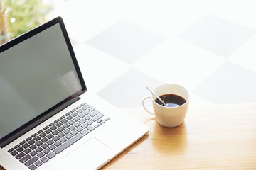
[[(163, 84), (157, 86), (154, 92), (166, 105), (164, 106), (164, 104), (152, 94), (142, 101), (144, 109), (151, 115), (154, 115), (160, 125), (170, 128), (181, 125), (188, 111), (190, 101), (188, 90), (178, 84)], [(147, 99), (151, 99), (154, 111), (151, 111), (151, 109), (146, 106), (145, 101)]]

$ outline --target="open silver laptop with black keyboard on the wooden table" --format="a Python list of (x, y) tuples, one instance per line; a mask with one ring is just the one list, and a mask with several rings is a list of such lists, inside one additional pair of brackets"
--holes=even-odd
[(62, 18), (6, 42), (0, 52), (5, 169), (100, 169), (149, 131), (87, 91)]

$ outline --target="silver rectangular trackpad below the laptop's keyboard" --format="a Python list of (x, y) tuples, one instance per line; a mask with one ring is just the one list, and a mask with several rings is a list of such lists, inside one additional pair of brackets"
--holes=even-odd
[(112, 157), (112, 149), (92, 137), (73, 152), (65, 156), (66, 163), (73, 169), (97, 169)]

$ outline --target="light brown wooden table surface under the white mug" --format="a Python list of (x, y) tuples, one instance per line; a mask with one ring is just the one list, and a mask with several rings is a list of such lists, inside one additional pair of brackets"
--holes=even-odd
[(256, 169), (256, 104), (190, 106), (176, 128), (143, 108), (123, 110), (149, 133), (102, 169)]

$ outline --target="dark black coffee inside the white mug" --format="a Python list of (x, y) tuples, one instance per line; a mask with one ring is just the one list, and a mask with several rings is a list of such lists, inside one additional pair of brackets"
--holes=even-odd
[[(164, 101), (164, 103), (166, 103), (166, 107), (176, 107), (183, 105), (183, 103), (186, 103), (186, 99), (176, 94), (164, 94), (159, 97)], [(164, 106), (164, 104), (161, 103), (158, 98), (156, 98), (155, 101), (159, 105)]]

